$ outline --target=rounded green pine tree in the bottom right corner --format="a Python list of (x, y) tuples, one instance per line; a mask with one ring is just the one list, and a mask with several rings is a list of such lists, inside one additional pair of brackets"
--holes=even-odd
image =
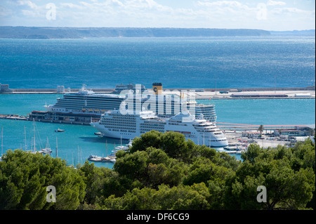
[[(230, 181), (225, 195), (228, 209), (304, 209), (315, 194), (315, 173), (312, 168), (292, 169), (291, 153), (278, 147), (247, 157)], [(267, 156), (270, 154), (270, 156)], [(256, 187), (264, 185), (267, 203), (256, 202)], [(229, 185), (227, 185), (229, 186)]]

